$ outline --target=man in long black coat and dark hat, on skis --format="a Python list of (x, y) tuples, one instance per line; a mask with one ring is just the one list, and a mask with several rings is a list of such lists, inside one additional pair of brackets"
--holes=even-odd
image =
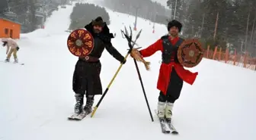
[(91, 113), (91, 107), (94, 104), (94, 95), (102, 95), (101, 86), (101, 54), (104, 48), (120, 63), (125, 64), (126, 60), (111, 43), (114, 38), (110, 33), (107, 24), (101, 17), (97, 17), (85, 26), (85, 29), (94, 37), (94, 48), (91, 54), (85, 58), (79, 58), (75, 64), (73, 75), (73, 91), (75, 92), (75, 114), (82, 113), (84, 96), (86, 95), (86, 104), (83, 108), (85, 113)]

